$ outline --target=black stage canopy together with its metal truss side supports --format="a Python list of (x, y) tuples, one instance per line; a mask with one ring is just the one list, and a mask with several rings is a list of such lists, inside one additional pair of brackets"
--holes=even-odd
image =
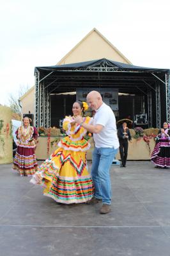
[(170, 122), (169, 69), (152, 69), (102, 58), (89, 62), (35, 67), (35, 126), (50, 126), (50, 95), (73, 92), (79, 87), (97, 90), (111, 87), (118, 92), (144, 96), (148, 126)]

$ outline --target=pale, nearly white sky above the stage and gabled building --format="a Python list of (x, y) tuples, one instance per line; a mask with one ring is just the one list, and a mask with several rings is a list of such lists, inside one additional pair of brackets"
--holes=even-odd
[(169, 0), (1, 1), (0, 104), (93, 28), (134, 65), (170, 69), (169, 10)]

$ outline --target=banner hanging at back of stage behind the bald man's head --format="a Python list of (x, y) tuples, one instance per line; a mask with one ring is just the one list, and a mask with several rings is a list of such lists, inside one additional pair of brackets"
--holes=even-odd
[[(76, 89), (76, 100), (86, 101), (86, 97), (90, 89), (79, 88)], [(113, 111), (118, 111), (118, 90), (111, 88), (98, 88), (98, 92), (102, 95), (105, 104), (111, 107)]]

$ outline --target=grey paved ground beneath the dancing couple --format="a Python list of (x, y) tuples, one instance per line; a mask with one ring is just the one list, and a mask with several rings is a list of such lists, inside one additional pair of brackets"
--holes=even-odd
[(113, 166), (106, 215), (99, 203), (59, 205), (29, 180), (0, 165), (1, 256), (170, 255), (170, 169)]

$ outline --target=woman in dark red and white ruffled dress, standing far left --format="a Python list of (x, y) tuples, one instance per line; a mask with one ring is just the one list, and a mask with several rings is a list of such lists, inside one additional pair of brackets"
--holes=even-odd
[(38, 132), (35, 127), (30, 126), (31, 119), (29, 117), (25, 116), (22, 121), (23, 125), (15, 132), (17, 137), (17, 152), (12, 168), (17, 170), (20, 176), (31, 176), (38, 169), (35, 156)]

